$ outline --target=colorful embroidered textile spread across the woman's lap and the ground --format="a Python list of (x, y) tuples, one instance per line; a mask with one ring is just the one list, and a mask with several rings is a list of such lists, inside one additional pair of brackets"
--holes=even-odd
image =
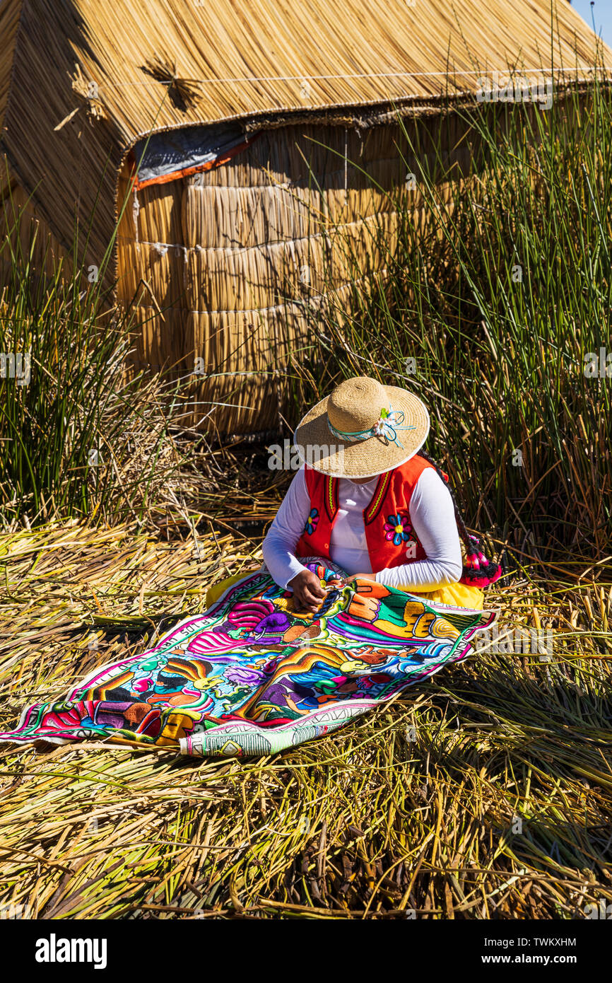
[[(306, 565), (322, 583), (337, 575), (320, 560)], [(495, 617), (366, 580), (330, 590), (314, 617), (296, 614), (293, 595), (257, 571), (142, 655), (96, 669), (66, 700), (27, 708), (0, 740), (271, 754), (463, 659)]]

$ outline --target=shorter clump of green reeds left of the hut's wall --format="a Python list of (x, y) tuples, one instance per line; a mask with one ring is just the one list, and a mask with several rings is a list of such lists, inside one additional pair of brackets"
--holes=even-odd
[(113, 303), (110, 247), (83, 268), (78, 234), (58, 259), (11, 202), (2, 217), (0, 516), (141, 519), (183, 461), (169, 424), (179, 383), (126, 374), (134, 324)]

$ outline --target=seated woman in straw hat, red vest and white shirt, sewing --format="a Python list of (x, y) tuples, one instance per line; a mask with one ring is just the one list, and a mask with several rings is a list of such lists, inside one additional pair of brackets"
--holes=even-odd
[(270, 574), (293, 591), (299, 610), (314, 613), (325, 597), (301, 562), (306, 556), (331, 560), (348, 580), (482, 607), (482, 588), (501, 570), (468, 534), (447, 476), (417, 454), (428, 432), (429, 415), (414, 393), (367, 376), (341, 382), (306, 414), (295, 443), (309, 463), (263, 543)]

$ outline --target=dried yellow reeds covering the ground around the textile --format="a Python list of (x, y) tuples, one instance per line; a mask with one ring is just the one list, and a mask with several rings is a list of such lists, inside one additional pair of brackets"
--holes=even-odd
[[(2, 728), (257, 556), (231, 535), (197, 550), (75, 522), (1, 539)], [(489, 595), (505, 624), (555, 625), (551, 662), (478, 654), (276, 757), (2, 745), (2, 910), (545, 919), (607, 903), (612, 588), (571, 580), (526, 570)]]

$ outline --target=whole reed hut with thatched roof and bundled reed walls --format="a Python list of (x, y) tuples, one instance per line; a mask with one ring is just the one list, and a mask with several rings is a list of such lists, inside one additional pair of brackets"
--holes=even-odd
[[(594, 36), (567, 0), (552, 15), (555, 79), (588, 79)], [(112, 243), (140, 360), (199, 359), (216, 426), (262, 430), (304, 299), (346, 289), (342, 251), (322, 278), (330, 226), (363, 251), (369, 222), (392, 235), (396, 112), (439, 144), (443, 102), (550, 61), (549, 0), (0, 0), (0, 196), (58, 254), (87, 230), (87, 269)]]

